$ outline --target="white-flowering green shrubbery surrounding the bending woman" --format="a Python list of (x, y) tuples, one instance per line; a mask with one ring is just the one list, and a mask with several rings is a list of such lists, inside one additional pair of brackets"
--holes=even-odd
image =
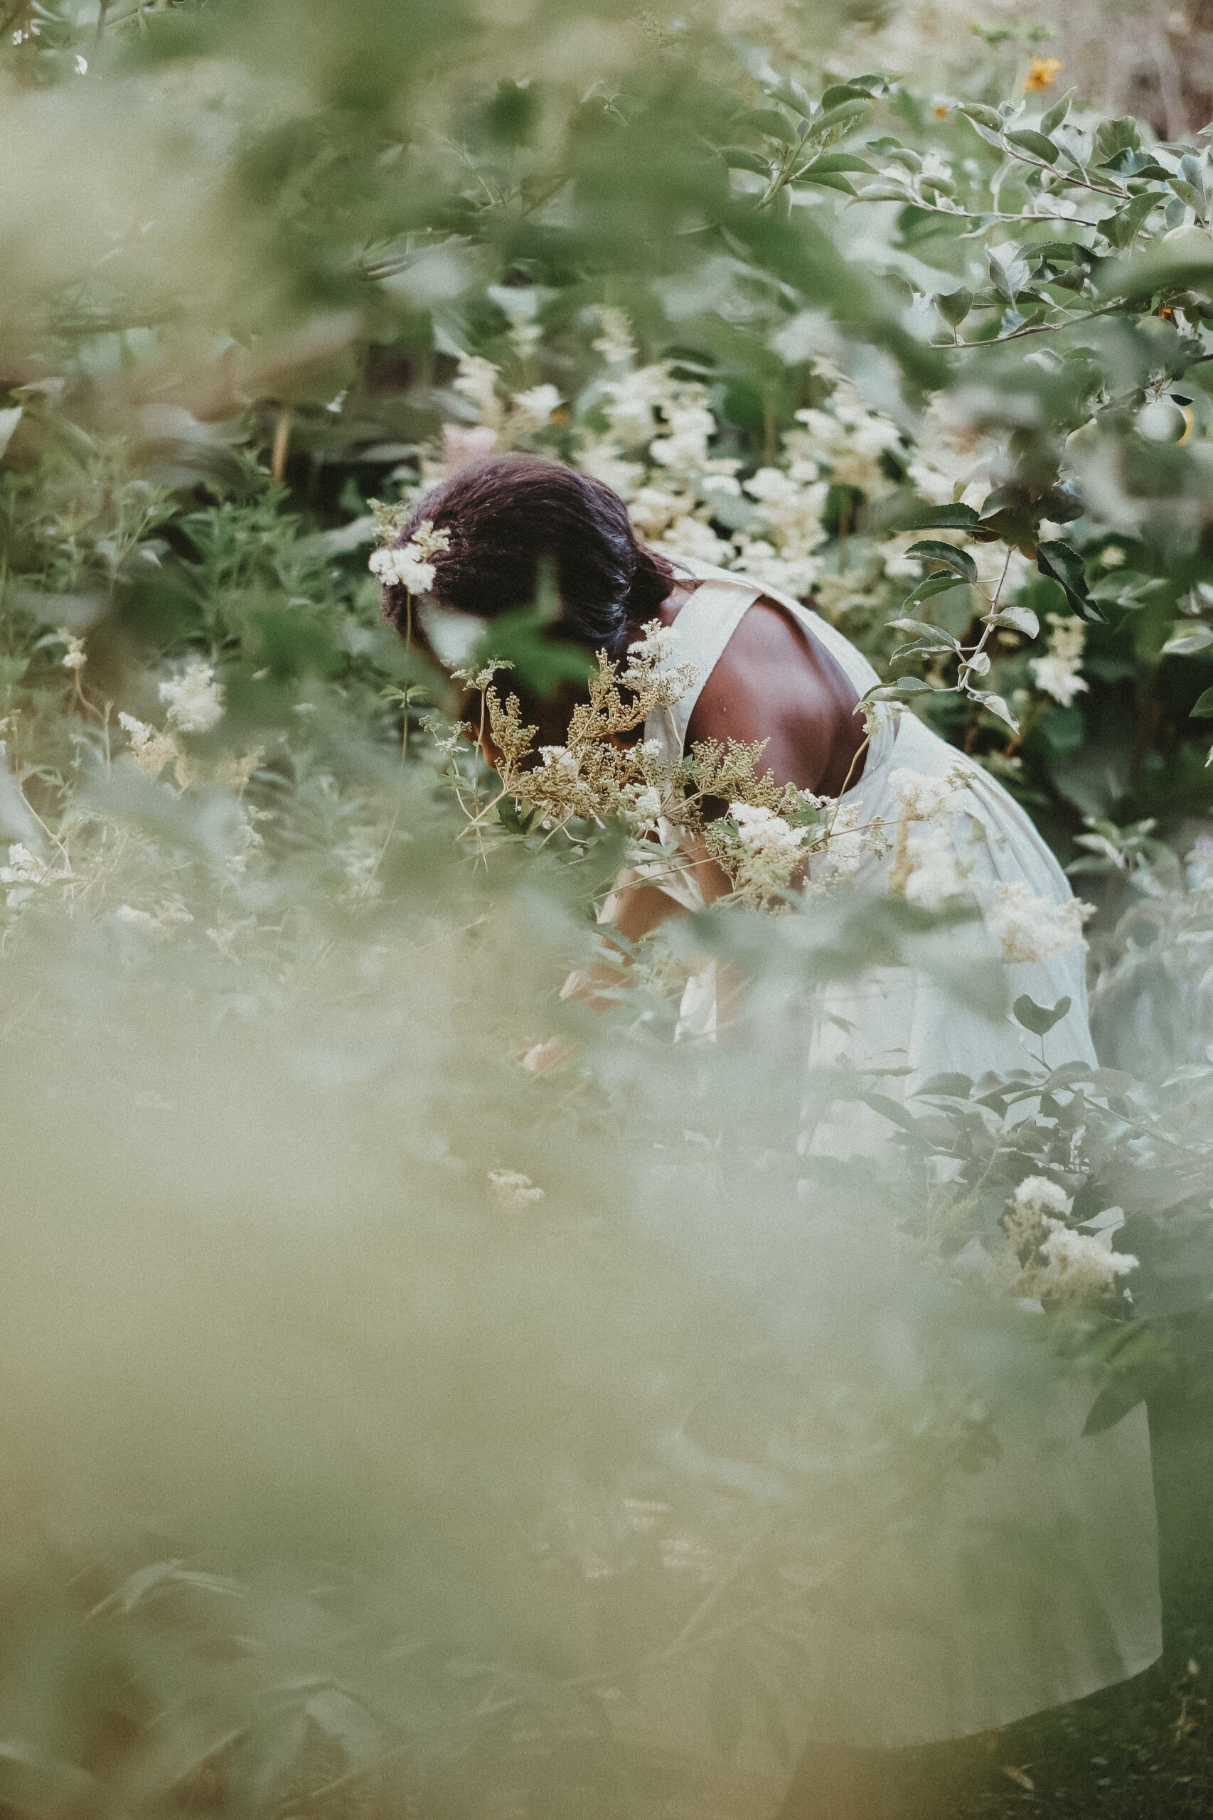
[[(707, 1811), (794, 1753), (803, 1587), (1058, 1372), (1098, 1429), (1200, 1360), (1209, 153), (1022, 44), (973, 93), (856, 75), (805, 11), (368, 4), (337, 56), (315, 7), (64, 7), (2, 49), (18, 1811), (572, 1811), (592, 1738), (641, 1815), (670, 1663)], [(510, 448), (809, 599), (872, 712), (1020, 795), (1100, 899), (1115, 1067), (1020, 999), (1005, 1076), (807, 1079), (821, 986), (912, 965), (1002, 1017), (974, 910), (1014, 963), (1089, 906), (985, 894), (947, 781), (878, 828), (752, 748), (663, 770), (661, 632), (539, 753), (486, 666), (543, 682), (541, 630), (450, 652), (484, 788), (379, 621), (441, 546), (375, 546)], [(559, 999), (683, 835), (732, 883), (694, 930), (754, 985), (732, 1050), (672, 1041), (674, 939), (597, 1025)], [(834, 888), (876, 844), (892, 890)], [(840, 1163), (809, 1127), (852, 1101)]]

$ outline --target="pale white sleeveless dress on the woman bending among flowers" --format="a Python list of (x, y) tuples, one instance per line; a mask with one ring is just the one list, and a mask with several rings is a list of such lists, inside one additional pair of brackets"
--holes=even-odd
[[(856, 695), (878, 681), (867, 659), (798, 601), (707, 564), (685, 566), (701, 586), (678, 615), (672, 661), (694, 664), (699, 679), (645, 728), (670, 759), (683, 750), (703, 681), (759, 597), (781, 604), (834, 657)], [(931, 777), (963, 774), (963, 815), (954, 839), (965, 863), (976, 854), (987, 877), (1025, 881), (1053, 903), (1071, 895), (1024, 810), (978, 764), (896, 706), (882, 715), (863, 774), (847, 792), (847, 799), (861, 801), (863, 821), (894, 814), (889, 777), (902, 766)], [(980, 819), (984, 843), (973, 843), (965, 817)], [(887, 859), (865, 857), (858, 883), (878, 883), (887, 866)], [(690, 870), (668, 886), (687, 908), (703, 901), (694, 877)], [(1062, 996), (1071, 999), (1067, 1017), (1049, 1036), (1049, 1059), (1091, 1059), (1082, 948), (1073, 946), (1044, 966), (1016, 965), (1011, 974), (1013, 996), (1029, 992), (1045, 1005)], [(991, 1068), (1025, 1065), (1011, 1021), (998, 1025), (965, 1012), (909, 968), (876, 970), (861, 986), (829, 988), (825, 997), (847, 1017), (849, 1030), (841, 1037), (834, 1021), (814, 1019), (807, 1041), (810, 1063), (834, 1059), (845, 1048), (858, 1067), (909, 1065), (914, 1072), (903, 1090), (911, 1092), (929, 1074), (980, 1077)], [(710, 968), (687, 986), (681, 1034), (714, 1034)], [(882, 1092), (898, 1090), (896, 1077), (876, 1085)], [(847, 1156), (880, 1143), (880, 1127), (871, 1117), (858, 1136), (856, 1128), (840, 1130), (838, 1148), (827, 1143), (827, 1152)], [(812, 1147), (818, 1148), (816, 1138)], [(891, 1243), (898, 1243), (894, 1236)], [(1024, 1320), (1044, 1316), (1025, 1310)], [(865, 1747), (967, 1736), (1082, 1698), (1157, 1660), (1162, 1634), (1146, 1410), (1138, 1405), (1113, 1429), (1084, 1436), (1091, 1394), (1082, 1385), (1058, 1385), (1047, 1407), (1042, 1405), (1038, 1425), (1029, 1420), (1029, 1432), (1011, 1440), (1002, 1460), (942, 1487), (922, 1522), (872, 1551), (854, 1603), (843, 1600), (832, 1618), (818, 1613), (807, 1656), (820, 1660), (821, 1671), (810, 1671), (805, 1680), (814, 1685), (801, 1685), (798, 1700), (789, 1702), (792, 1734)], [(1005, 1538), (1014, 1538), (1014, 1545)], [(985, 1587), (984, 1598), (974, 1598), (976, 1583)], [(898, 1616), (882, 1620), (882, 1605)], [(654, 1744), (659, 1714), (668, 1718), (672, 1700), (683, 1720), (694, 1705), (687, 1685), (676, 1691), (657, 1680), (645, 1698)], [(761, 1816), (778, 1807), (780, 1771), (758, 1773), (761, 1751), (754, 1749), (752, 1800), (734, 1784), (730, 1815)], [(710, 1754), (707, 1744), (705, 1753)]]

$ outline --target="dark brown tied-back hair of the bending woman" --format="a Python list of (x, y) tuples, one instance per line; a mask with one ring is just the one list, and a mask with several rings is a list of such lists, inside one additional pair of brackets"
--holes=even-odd
[[(424, 495), (397, 548), (426, 519), (450, 535), (450, 550), (433, 559), (441, 606), (483, 619), (530, 606), (548, 561), (561, 601), (552, 635), (610, 657), (656, 619), (678, 579), (665, 557), (636, 541), (617, 493), (537, 455), (494, 455), (463, 468)], [(403, 588), (382, 590), (382, 617), (404, 630)]]

